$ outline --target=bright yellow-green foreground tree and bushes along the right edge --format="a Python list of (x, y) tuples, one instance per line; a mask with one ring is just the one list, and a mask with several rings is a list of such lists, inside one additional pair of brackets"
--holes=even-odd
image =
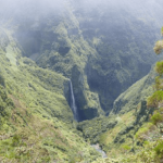
[[(163, 28), (162, 28), (163, 34)], [(162, 52), (162, 40), (158, 41), (154, 47), (156, 54)], [(143, 149), (134, 155), (131, 159), (128, 155), (128, 162), (155, 162), (160, 163), (163, 159), (163, 90), (162, 90), (162, 74), (163, 74), (162, 61), (159, 61), (155, 65), (155, 72), (159, 76), (155, 77), (155, 91), (148, 98), (148, 109), (152, 109), (154, 112), (150, 117), (151, 123), (143, 124), (136, 133), (136, 138), (143, 142)], [(129, 159), (130, 158), (130, 159)]]

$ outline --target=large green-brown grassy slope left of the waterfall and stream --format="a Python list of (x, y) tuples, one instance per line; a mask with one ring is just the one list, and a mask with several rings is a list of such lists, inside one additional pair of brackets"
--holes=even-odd
[(4, 29), (0, 34), (0, 161), (96, 160), (98, 153), (72, 125), (63, 96), (67, 79), (22, 58), (11, 34)]

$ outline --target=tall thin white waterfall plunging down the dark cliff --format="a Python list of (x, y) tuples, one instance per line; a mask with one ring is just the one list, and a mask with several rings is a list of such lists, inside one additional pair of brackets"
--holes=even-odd
[(74, 113), (74, 118), (76, 121), (78, 121), (77, 106), (76, 106), (76, 103), (75, 103), (75, 97), (74, 97), (73, 85), (72, 85), (71, 79), (70, 79), (70, 86), (71, 86), (71, 97), (72, 97), (71, 109), (72, 109), (72, 111)]

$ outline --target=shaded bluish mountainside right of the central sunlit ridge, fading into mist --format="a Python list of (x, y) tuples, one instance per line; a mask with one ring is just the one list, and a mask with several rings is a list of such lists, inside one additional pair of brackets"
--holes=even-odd
[(148, 1), (126, 0), (75, 4), (84, 39), (97, 51), (87, 63), (88, 84), (108, 111), (120, 93), (147, 75), (154, 63), (152, 47), (159, 38), (161, 14), (156, 14), (161, 7), (153, 2), (158, 10), (151, 10)]

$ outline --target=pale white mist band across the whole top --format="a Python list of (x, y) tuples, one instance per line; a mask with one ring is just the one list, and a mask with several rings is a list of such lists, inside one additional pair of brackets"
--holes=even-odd
[[(67, 7), (75, 11), (80, 9), (88, 12), (97, 12), (98, 10), (126, 10), (128, 13), (134, 13), (143, 16), (142, 11), (148, 14), (159, 14), (163, 2), (160, 0), (5, 0), (1, 1), (0, 16), (1, 18), (13, 16), (35, 16), (46, 14), (59, 14), (67, 10)], [(156, 16), (156, 15), (155, 15)], [(159, 15), (158, 15), (159, 16)]]

